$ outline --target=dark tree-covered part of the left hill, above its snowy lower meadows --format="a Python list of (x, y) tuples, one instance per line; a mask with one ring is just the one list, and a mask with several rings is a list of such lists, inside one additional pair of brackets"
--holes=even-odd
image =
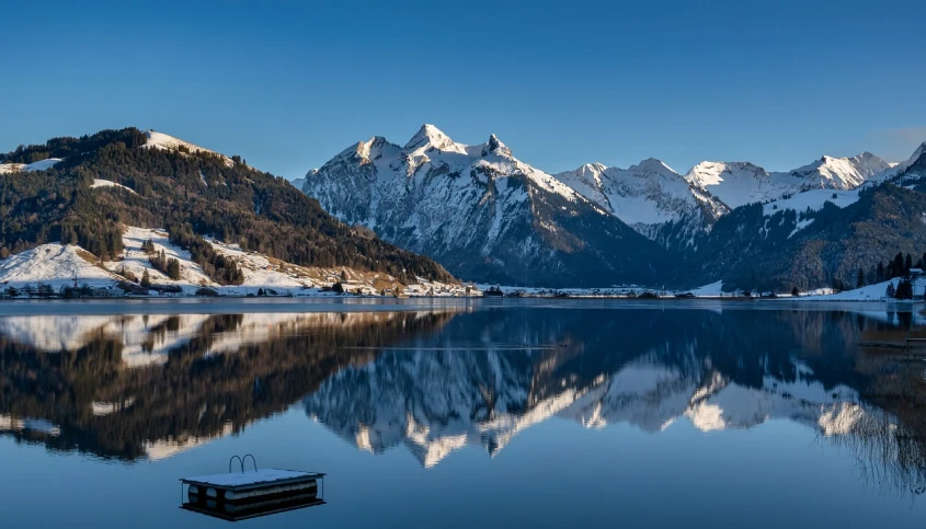
[[(42, 170), (16, 165), (43, 161)], [(0, 257), (61, 241), (113, 258), (124, 227), (139, 226), (165, 228), (219, 275), (221, 257), (205, 237), (304, 266), (385, 272), (407, 284), (453, 279), (434, 261), (341, 223), (282, 177), (185, 142), (152, 145), (136, 128), (20, 147), (0, 163)]]

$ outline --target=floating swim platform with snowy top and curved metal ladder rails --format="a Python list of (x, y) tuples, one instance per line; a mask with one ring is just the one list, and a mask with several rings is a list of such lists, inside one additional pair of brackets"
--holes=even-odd
[(245, 472), (242, 460), (240, 472), (181, 479), (181, 508), (239, 521), (323, 505), (324, 476), (322, 472), (258, 470), (256, 461), (254, 470)]

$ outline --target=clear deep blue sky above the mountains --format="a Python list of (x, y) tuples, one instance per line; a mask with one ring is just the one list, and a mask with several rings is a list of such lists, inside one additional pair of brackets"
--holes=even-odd
[(0, 151), (153, 128), (286, 177), (433, 123), (549, 172), (926, 140), (926, 2), (5, 2)]

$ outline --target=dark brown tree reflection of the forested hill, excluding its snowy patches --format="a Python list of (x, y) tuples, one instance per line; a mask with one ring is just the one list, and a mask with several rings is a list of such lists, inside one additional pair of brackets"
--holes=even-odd
[[(209, 438), (285, 410), (331, 373), (365, 363), (376, 347), (438, 329), (447, 312), (375, 312), (291, 315), (253, 325), (261, 340), (232, 340), (247, 318), (208, 317), (191, 340), (168, 353), (163, 365), (126, 369), (123, 344), (99, 333), (76, 350), (37, 352), (0, 335), (0, 415), (34, 417), (58, 426), (56, 435), (36, 429), (10, 432), (18, 440), (50, 449), (90, 451), (136, 459), (151, 441)], [(123, 317), (116, 317), (123, 318)], [(138, 317), (141, 318), (141, 317)], [(169, 318), (151, 329), (158, 336), (180, 329)], [(245, 330), (247, 331), (247, 330)], [(148, 350), (156, 337), (147, 337)], [(161, 336), (163, 337), (163, 336)], [(209, 354), (217, 344), (232, 354)], [(94, 403), (130, 402), (114, 413), (94, 414)]]

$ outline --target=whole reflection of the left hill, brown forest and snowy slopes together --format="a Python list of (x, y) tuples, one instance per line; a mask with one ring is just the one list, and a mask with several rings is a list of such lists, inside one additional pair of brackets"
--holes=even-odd
[[(0, 434), (151, 459), (236, 433), (451, 312), (0, 319)], [(357, 347), (346, 352), (341, 347)]]

